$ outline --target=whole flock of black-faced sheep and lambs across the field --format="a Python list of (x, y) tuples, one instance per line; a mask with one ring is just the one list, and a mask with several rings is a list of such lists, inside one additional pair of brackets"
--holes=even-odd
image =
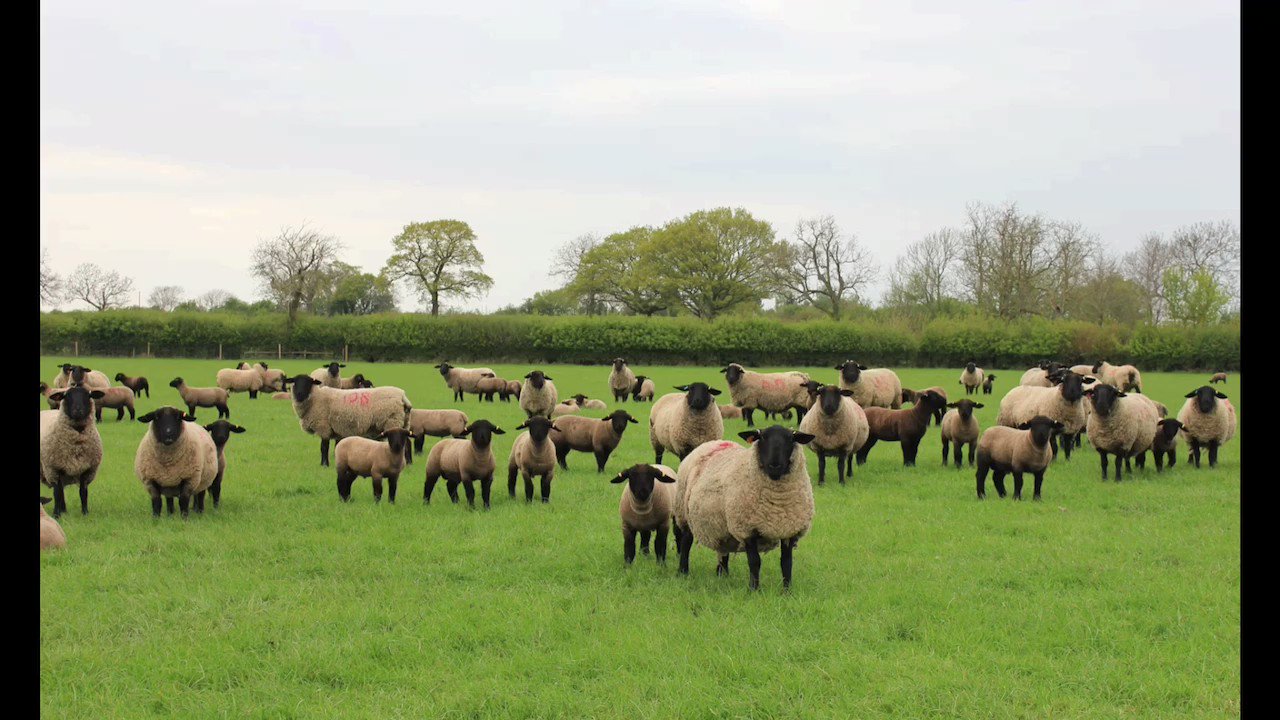
[[(449, 498), (460, 502), (458, 487), (475, 505), (476, 488), (484, 507), (490, 506), (497, 459), (493, 436), (506, 430), (493, 423), (470, 418), (456, 409), (415, 409), (403, 389), (374, 387), (364, 375), (343, 378), (340, 363), (317, 368), (308, 375), (287, 377), (265, 363), (241, 364), (218, 372), (215, 387), (189, 387), (182, 378), (170, 382), (182, 402), (137, 418), (150, 425), (134, 457), (134, 473), (151, 498), (159, 516), (164, 501), (173, 514), (174, 500), (183, 516), (189, 507), (202, 512), (206, 493), (216, 507), (227, 468), (225, 448), (241, 428), (230, 423), (230, 393), (273, 392), (271, 397), (291, 400), (301, 428), (320, 438), (320, 464), (329, 465), (329, 443), (337, 442), (334, 465), (338, 495), (351, 498), (357, 478), (370, 478), (375, 501), (388, 486), (389, 502), (406, 465), (421, 454), (428, 436), (443, 438), (426, 456), (422, 498), (430, 502), (440, 479)], [(453, 400), (467, 393), (480, 400), (516, 398), (526, 420), (525, 430), (512, 445), (507, 459), (507, 489), (515, 498), (517, 479), (524, 479), (525, 500), (534, 498), (534, 478), (539, 479), (543, 502), (550, 500), (550, 484), (557, 465), (567, 469), (571, 451), (595, 456), (603, 473), (612, 452), (621, 445), (625, 430), (639, 420), (626, 410), (603, 418), (585, 416), (584, 410), (607, 410), (602, 400), (573, 395), (561, 401), (552, 377), (532, 370), (524, 380), (499, 378), (489, 368), (435, 365)], [(801, 372), (758, 373), (730, 363), (721, 373), (728, 386), (728, 404), (718, 404), (722, 391), (708, 383), (678, 386), (654, 398), (652, 379), (636, 375), (626, 359), (617, 357), (609, 372), (609, 391), (614, 402), (653, 401), (649, 414), (649, 443), (653, 464), (637, 464), (618, 473), (614, 483), (625, 484), (620, 498), (623, 559), (632, 562), (636, 537), (641, 551), (649, 552), (653, 538), (659, 562), (667, 553), (667, 534), (673, 536), (680, 553), (680, 571), (689, 571), (689, 552), (694, 541), (716, 551), (717, 574), (728, 571), (730, 555), (745, 552), (750, 587), (759, 585), (760, 553), (781, 548), (783, 587), (791, 583), (792, 551), (808, 533), (814, 514), (813, 484), (804, 448), (818, 457), (818, 484), (826, 483), (827, 460), (836, 460), (836, 478), (844, 483), (856, 465), (863, 465), (878, 442), (897, 442), (904, 465), (915, 465), (916, 451), (931, 423), (940, 425), (942, 462), (954, 451), (956, 468), (968, 446), (969, 465), (975, 466), (977, 496), (986, 496), (991, 474), (996, 492), (1006, 496), (1005, 477), (1012, 475), (1014, 498), (1021, 498), (1023, 477), (1034, 482), (1033, 497), (1041, 498), (1044, 471), (1059, 451), (1069, 459), (1079, 447), (1082, 434), (1101, 457), (1102, 477), (1107, 477), (1108, 455), (1114, 459), (1115, 479), (1121, 464), (1130, 460), (1139, 468), (1151, 451), (1157, 471), (1167, 457), (1174, 465), (1179, 438), (1189, 445), (1188, 461), (1198, 468), (1207, 450), (1208, 464), (1217, 464), (1219, 448), (1235, 434), (1235, 409), (1225, 393), (1210, 384), (1185, 396), (1176, 419), (1166, 418), (1167, 407), (1142, 393), (1142, 375), (1132, 365), (1066, 366), (1042, 361), (1027, 370), (1021, 383), (1000, 402), (996, 425), (984, 432), (974, 410), (982, 402), (969, 397), (948, 402), (941, 387), (913, 391), (904, 388), (893, 370), (868, 369), (852, 360), (835, 368), (835, 383), (813, 380)], [(81, 511), (88, 512), (88, 486), (102, 460), (102, 443), (96, 421), (104, 407), (116, 409), (116, 420), (128, 410), (134, 418), (136, 393), (150, 397), (146, 378), (118, 373), (122, 384), (111, 387), (104, 373), (65, 364), (51, 384), (41, 383), (50, 410), (41, 411), (41, 482), (54, 491), (54, 518), (67, 511), (64, 491), (77, 487)], [(960, 374), (965, 395), (991, 395), (996, 375), (969, 363)], [(1219, 373), (1211, 384), (1225, 382)], [(902, 407), (910, 404), (911, 407)], [(214, 407), (218, 420), (195, 423), (197, 407)], [(754, 428), (754, 414), (790, 418), (797, 428), (772, 425)], [(741, 446), (724, 439), (724, 420), (741, 418), (751, 428), (740, 432), (748, 441)], [(675, 455), (678, 470), (663, 465), (664, 454)], [(41, 547), (59, 547), (65, 537), (56, 520), (45, 514), (41, 498)]]

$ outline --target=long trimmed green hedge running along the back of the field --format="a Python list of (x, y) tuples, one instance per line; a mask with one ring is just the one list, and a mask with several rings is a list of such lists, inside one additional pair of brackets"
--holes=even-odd
[(366, 361), (634, 363), (713, 365), (823, 365), (855, 359), (867, 365), (1030, 366), (1041, 359), (1106, 359), (1151, 370), (1238, 370), (1240, 325), (1094, 325), (1033, 318), (938, 319), (920, 333), (869, 322), (783, 323), (732, 318), (549, 318), (530, 315), (367, 315), (301, 318), (292, 332), (283, 315), (219, 313), (46, 313), (44, 354), (237, 359), (251, 351), (310, 350)]

